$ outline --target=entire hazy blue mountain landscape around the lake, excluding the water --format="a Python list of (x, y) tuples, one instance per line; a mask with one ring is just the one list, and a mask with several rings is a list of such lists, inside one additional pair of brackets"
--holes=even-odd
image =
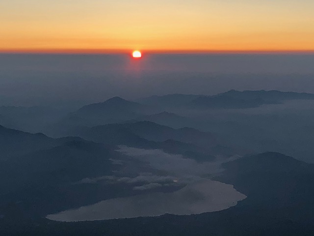
[[(266, 115), (263, 109), (255, 109), (253, 115), (240, 109), (313, 99), (314, 94), (276, 90), (170, 94), (137, 102), (113, 97), (67, 111), (63, 119), (60, 114), (50, 117), (53, 109), (1, 107), (0, 235), (15, 231), (31, 236), (55, 232), (187, 236), (197, 226), (199, 235), (310, 236), (314, 165), (300, 160), (303, 151), (311, 154), (313, 125), (307, 115), (313, 113), (312, 102), (287, 105), (304, 105), (306, 110), (295, 110), (302, 116), (288, 113), (286, 105), (275, 107), (284, 107), (283, 112)], [(290, 114), (287, 119), (286, 114)], [(53, 137), (60, 138), (21, 131), (36, 128), (41, 118), (40, 132), (54, 122), (49, 128), (55, 130)], [(288, 146), (299, 155), (288, 152)], [(249, 154), (259, 152), (263, 153)], [(233, 185), (247, 198), (226, 210), (201, 215), (81, 223), (44, 219), (47, 214), (103, 200), (172, 193), (209, 178)], [(194, 190), (189, 194), (193, 199), (203, 197)]]

